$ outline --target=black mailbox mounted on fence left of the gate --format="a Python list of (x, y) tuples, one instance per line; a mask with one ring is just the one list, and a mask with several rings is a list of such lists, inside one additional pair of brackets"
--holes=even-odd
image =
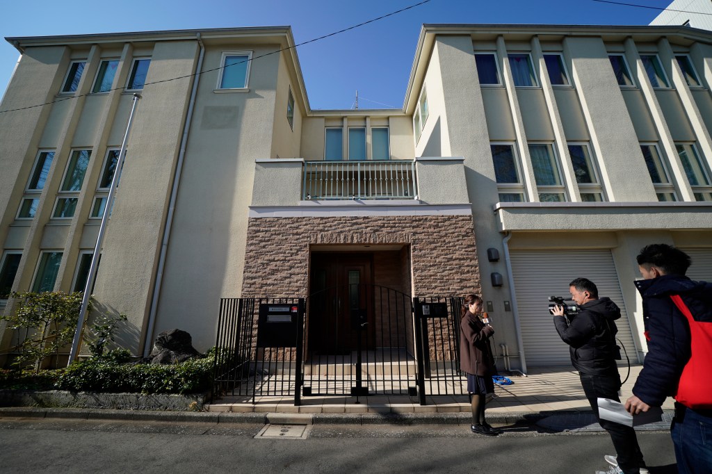
[(297, 347), (299, 306), (261, 304), (257, 320), (257, 347)]

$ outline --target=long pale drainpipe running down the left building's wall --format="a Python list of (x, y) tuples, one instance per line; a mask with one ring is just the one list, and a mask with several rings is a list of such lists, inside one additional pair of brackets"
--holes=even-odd
[(161, 254), (158, 258), (158, 270), (156, 273), (156, 282), (153, 285), (153, 297), (151, 300), (151, 311), (148, 316), (148, 327), (146, 330), (146, 339), (143, 344), (143, 357), (148, 357), (153, 347), (153, 330), (156, 324), (156, 312), (158, 310), (158, 300), (161, 293), (161, 283), (163, 280), (163, 268), (166, 263), (166, 253), (168, 251), (168, 239), (171, 235), (171, 225), (173, 223), (173, 213), (175, 211), (176, 200), (178, 196), (178, 186), (180, 184), (181, 172), (183, 170), (183, 159), (185, 157), (185, 149), (188, 144), (188, 132), (193, 117), (195, 107), (195, 97), (198, 94), (198, 83), (200, 82), (200, 73), (203, 68), (203, 56), (205, 55), (205, 46), (200, 38), (200, 33), (197, 33), (197, 41), (200, 45), (200, 53), (198, 55), (198, 64), (195, 68), (195, 80), (193, 81), (193, 90), (190, 93), (190, 102), (188, 105), (188, 113), (185, 117), (185, 125), (183, 126), (183, 136), (181, 138), (180, 153), (178, 155), (178, 163), (173, 177), (173, 189), (171, 191), (171, 199), (168, 204), (168, 215), (166, 217), (166, 226), (163, 229), (163, 241), (161, 243)]

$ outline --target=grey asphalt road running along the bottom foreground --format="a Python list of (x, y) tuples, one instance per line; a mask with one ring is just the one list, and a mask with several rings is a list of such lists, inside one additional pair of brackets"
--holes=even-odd
[[(490, 438), (457, 425), (312, 426), (305, 439), (253, 438), (263, 425), (3, 418), (0, 473), (595, 473), (607, 433), (518, 427)], [(639, 432), (650, 472), (676, 473), (665, 431)]]

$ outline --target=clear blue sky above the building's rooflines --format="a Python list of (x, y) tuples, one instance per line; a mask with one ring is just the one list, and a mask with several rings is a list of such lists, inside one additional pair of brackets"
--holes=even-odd
[[(1, 36), (53, 36), (239, 26), (292, 27), (296, 43), (362, 23), (422, 0), (73, 0), (3, 1)], [(621, 0), (666, 7), (671, 0)], [(430, 0), (401, 14), (298, 48), (313, 109), (403, 105), (422, 23), (645, 25), (653, 9), (593, 0)], [(0, 91), (19, 53), (0, 42)]]

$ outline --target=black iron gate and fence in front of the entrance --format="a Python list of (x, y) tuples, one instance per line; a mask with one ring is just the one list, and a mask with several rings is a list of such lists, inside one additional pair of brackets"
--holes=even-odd
[(221, 300), (214, 395), (465, 394), (459, 298), (340, 285), (297, 298)]

